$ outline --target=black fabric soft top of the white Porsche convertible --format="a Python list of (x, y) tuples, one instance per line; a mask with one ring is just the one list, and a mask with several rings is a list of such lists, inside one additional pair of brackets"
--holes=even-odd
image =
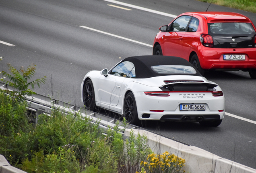
[[(192, 75), (202, 76), (194, 66), (187, 60), (176, 56), (157, 56), (157, 55), (145, 55), (145, 56), (131, 56), (124, 58), (122, 62), (130, 61), (135, 66), (136, 78), (150, 78), (155, 76), (166, 75)], [(157, 65), (186, 65), (192, 66), (196, 70), (196, 74), (159, 74), (152, 70), (151, 66)]]

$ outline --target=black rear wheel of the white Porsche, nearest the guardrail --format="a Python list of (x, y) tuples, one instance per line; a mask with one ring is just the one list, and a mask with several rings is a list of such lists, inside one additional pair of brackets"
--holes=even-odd
[(136, 101), (132, 93), (128, 93), (124, 98), (124, 115), (127, 123), (138, 125), (138, 111), (136, 106)]

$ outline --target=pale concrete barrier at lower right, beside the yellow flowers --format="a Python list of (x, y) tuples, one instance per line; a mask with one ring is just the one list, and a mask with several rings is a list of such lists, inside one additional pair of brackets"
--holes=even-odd
[[(131, 129), (124, 131), (124, 136), (130, 136)], [(149, 140), (149, 147), (156, 154), (168, 151), (175, 154), (186, 163), (184, 171), (187, 173), (256, 173), (256, 169), (239, 163), (223, 159), (213, 153), (194, 146), (188, 146), (146, 130), (132, 129), (134, 135), (145, 134)]]

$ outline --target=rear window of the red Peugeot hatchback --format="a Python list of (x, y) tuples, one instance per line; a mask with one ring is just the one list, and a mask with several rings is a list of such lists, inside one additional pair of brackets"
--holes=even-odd
[(221, 22), (208, 23), (208, 34), (252, 34), (255, 33), (251, 23)]

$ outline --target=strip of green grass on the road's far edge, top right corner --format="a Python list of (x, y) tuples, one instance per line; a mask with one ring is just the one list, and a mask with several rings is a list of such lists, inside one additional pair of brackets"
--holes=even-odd
[[(211, 3), (212, 0), (198, 0)], [(256, 13), (256, 0), (213, 0), (212, 4)]]

